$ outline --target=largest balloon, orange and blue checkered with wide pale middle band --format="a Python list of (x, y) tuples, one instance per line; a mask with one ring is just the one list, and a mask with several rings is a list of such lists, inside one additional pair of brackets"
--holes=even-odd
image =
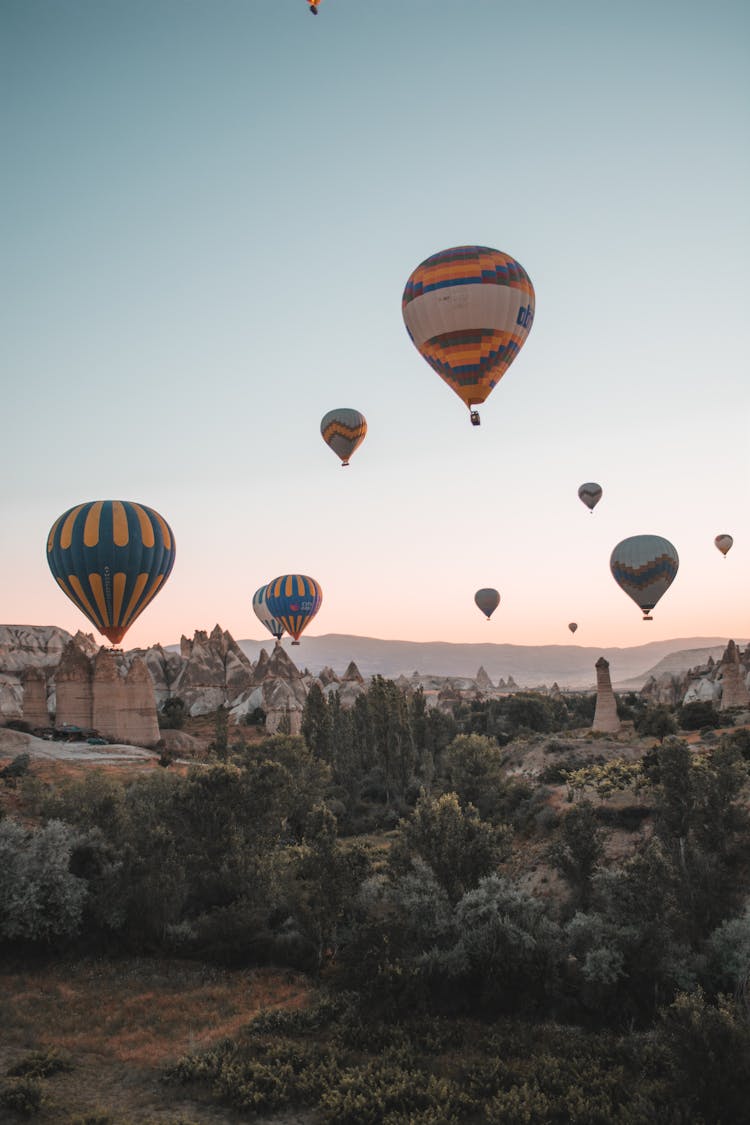
[(473, 410), (497, 386), (534, 321), (534, 287), (524, 268), (489, 246), (453, 246), (412, 273), (401, 298), (412, 342)]

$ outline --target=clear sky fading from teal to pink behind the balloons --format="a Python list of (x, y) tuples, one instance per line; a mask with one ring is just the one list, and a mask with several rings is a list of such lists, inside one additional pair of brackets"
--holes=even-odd
[[(288, 572), (310, 634), (750, 636), (750, 6), (306, 9), (0, 0), (0, 621), (92, 631), (46, 536), (120, 498), (178, 547), (126, 647), (260, 638)], [(479, 429), (400, 312), (462, 243), (536, 290)], [(680, 556), (650, 624), (608, 567), (642, 532)]]

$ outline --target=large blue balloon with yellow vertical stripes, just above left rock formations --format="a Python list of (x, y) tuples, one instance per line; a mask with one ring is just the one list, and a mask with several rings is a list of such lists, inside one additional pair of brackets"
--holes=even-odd
[(52, 525), (47, 562), (70, 600), (119, 645), (169, 578), (174, 536), (166, 520), (145, 504), (89, 501)]

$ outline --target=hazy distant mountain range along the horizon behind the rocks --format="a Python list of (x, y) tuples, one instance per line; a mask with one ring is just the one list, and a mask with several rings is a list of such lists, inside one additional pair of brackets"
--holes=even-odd
[[(272, 638), (237, 642), (251, 660), (262, 648), (273, 648)], [(476, 676), (484, 667), (490, 680), (513, 676), (522, 687), (591, 688), (596, 684), (595, 664), (600, 656), (609, 662), (615, 686), (623, 684), (636, 690), (649, 674), (660, 670), (687, 672), (705, 663), (710, 656), (719, 659), (728, 644), (723, 637), (680, 637), (650, 641), (631, 648), (599, 648), (582, 645), (451, 645), (446, 641), (380, 640), (349, 633), (326, 633), (302, 637), (299, 648), (284, 638), (283, 646), (295, 664), (317, 675), (322, 668), (333, 668), (342, 675), (350, 660), (356, 663), (363, 676), (399, 675)], [(744, 642), (743, 642), (744, 644)], [(662, 662), (663, 666), (662, 666)]]

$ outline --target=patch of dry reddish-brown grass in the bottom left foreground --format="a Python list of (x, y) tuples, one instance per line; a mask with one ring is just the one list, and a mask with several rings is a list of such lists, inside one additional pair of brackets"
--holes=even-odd
[(0, 1073), (33, 1051), (67, 1052), (74, 1069), (48, 1080), (40, 1120), (106, 1110), (112, 1122), (234, 1122), (160, 1081), (163, 1066), (236, 1035), (269, 1008), (302, 1007), (306, 979), (182, 961), (84, 960), (0, 971)]

